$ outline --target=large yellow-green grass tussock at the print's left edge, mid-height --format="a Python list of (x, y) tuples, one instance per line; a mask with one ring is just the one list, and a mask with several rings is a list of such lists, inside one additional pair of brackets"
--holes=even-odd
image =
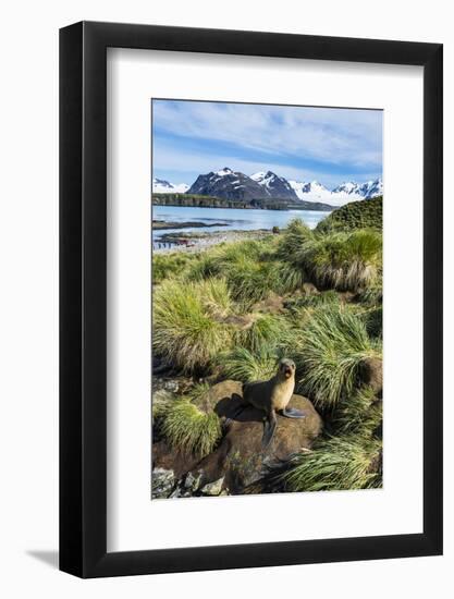
[(208, 369), (231, 346), (232, 327), (223, 321), (230, 308), (225, 281), (164, 281), (154, 294), (155, 352), (186, 372)]

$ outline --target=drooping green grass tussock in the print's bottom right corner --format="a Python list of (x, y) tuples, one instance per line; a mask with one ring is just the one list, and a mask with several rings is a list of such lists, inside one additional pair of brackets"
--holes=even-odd
[(379, 488), (382, 442), (359, 435), (329, 437), (300, 454), (282, 475), (289, 491), (330, 491)]

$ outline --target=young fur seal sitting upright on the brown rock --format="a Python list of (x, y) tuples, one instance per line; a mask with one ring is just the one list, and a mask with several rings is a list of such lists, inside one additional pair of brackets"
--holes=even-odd
[(278, 366), (278, 372), (266, 381), (246, 382), (243, 384), (243, 411), (247, 405), (253, 405), (265, 412), (265, 430), (261, 447), (266, 449), (273, 438), (277, 427), (275, 414), (287, 418), (305, 418), (306, 414), (299, 409), (287, 407), (295, 389), (295, 363), (293, 359), (283, 358)]

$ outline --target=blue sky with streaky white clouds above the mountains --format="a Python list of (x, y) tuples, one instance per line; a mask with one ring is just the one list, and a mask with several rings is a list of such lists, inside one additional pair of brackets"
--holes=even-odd
[(154, 176), (191, 185), (224, 167), (330, 188), (382, 176), (382, 111), (152, 100)]

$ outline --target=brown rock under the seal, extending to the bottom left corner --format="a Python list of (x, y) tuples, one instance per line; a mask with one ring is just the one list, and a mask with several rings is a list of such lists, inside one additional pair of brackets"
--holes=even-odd
[(322, 420), (310, 401), (295, 394), (290, 405), (304, 411), (306, 418), (278, 416), (274, 437), (263, 451), (263, 414), (247, 406), (235, 416), (241, 394), (242, 383), (226, 380), (214, 384), (198, 400), (200, 409), (214, 411), (224, 423), (224, 435), (218, 448), (203, 460), (175, 452), (164, 441), (154, 445), (155, 469), (174, 474), (173, 487), (161, 485), (164, 491), (159, 497), (262, 492), (275, 468), (282, 467), (294, 454), (309, 449), (321, 432)]

